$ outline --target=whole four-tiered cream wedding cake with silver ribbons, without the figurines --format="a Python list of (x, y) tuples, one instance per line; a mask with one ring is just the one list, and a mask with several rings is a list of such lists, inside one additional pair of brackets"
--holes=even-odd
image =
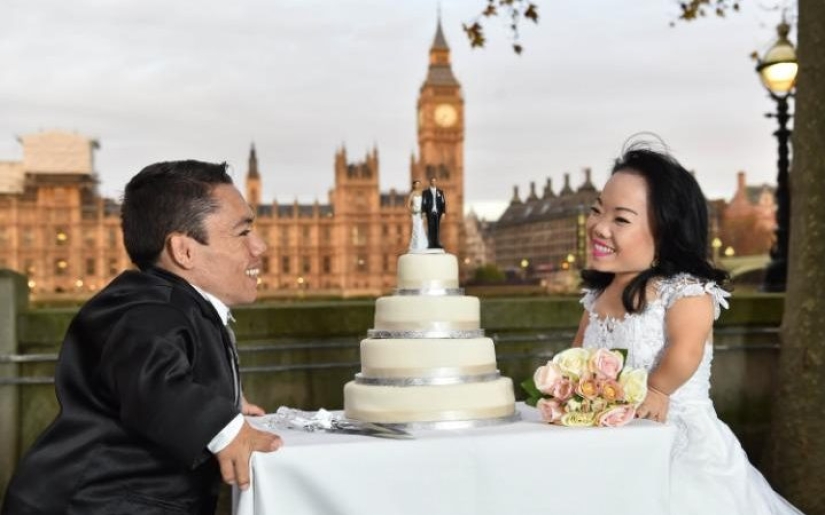
[(461, 427), (516, 418), (513, 382), (501, 377), (478, 298), (458, 288), (455, 256), (404, 254), (395, 295), (375, 305), (361, 342), (361, 373), (344, 386), (347, 418)]

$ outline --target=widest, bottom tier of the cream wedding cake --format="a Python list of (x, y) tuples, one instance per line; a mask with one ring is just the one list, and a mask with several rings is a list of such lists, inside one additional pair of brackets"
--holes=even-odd
[(379, 386), (351, 381), (344, 386), (347, 418), (378, 424), (505, 419), (516, 414), (513, 382), (438, 386)]

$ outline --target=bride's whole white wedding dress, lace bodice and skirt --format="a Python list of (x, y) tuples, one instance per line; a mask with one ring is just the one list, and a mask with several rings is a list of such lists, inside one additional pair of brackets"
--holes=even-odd
[[(664, 318), (682, 297), (710, 295), (715, 316), (727, 307), (728, 296), (714, 283), (683, 274), (656, 284), (657, 296), (640, 313), (624, 318), (600, 318), (593, 309), (596, 292), (582, 299), (590, 320), (586, 348), (627, 349), (627, 366), (656, 368), (666, 345)], [(671, 515), (793, 515), (801, 514), (773, 491), (730, 428), (719, 420), (710, 399), (712, 340), (693, 376), (670, 397), (667, 424), (676, 426), (671, 453)]]

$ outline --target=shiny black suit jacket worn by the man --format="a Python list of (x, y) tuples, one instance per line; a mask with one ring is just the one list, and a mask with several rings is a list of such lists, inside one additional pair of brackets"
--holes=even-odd
[(206, 445), (237, 414), (231, 342), (181, 278), (128, 271), (69, 326), (60, 413), (20, 462), (4, 515), (214, 513)]

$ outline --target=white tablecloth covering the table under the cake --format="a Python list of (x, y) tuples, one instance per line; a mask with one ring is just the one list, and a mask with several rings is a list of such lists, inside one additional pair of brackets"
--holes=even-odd
[(285, 430), (252, 457), (236, 515), (666, 515), (674, 429), (517, 423), (415, 439)]

